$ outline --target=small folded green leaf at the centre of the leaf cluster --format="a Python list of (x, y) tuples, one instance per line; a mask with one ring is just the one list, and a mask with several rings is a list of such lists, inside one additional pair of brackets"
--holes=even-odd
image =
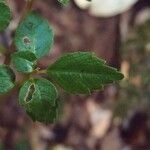
[(36, 56), (30, 51), (20, 51), (13, 53), (11, 62), (16, 70), (22, 73), (31, 73), (36, 66)]

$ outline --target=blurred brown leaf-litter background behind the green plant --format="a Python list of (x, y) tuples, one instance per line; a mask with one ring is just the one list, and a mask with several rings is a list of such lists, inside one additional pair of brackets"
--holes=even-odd
[[(0, 33), (0, 63), (25, 5), (8, 2), (13, 19)], [(34, 9), (55, 32), (40, 68), (66, 52), (92, 51), (125, 79), (91, 96), (62, 91), (60, 121), (50, 125), (32, 122), (18, 91), (0, 96), (0, 150), (150, 150), (150, 0), (36, 0)]]

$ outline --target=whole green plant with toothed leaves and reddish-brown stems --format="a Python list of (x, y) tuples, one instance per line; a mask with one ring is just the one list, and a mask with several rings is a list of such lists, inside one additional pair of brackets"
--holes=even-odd
[[(45, 70), (38, 68), (37, 61), (52, 48), (54, 33), (48, 21), (31, 10), (33, 2), (26, 1), (15, 38), (6, 52), (4, 64), (0, 64), (0, 94), (19, 86), (19, 105), (32, 120), (52, 123), (57, 120), (60, 105), (52, 81), (69, 93), (91, 94), (106, 84), (121, 80), (123, 74), (90, 52), (68, 53)], [(68, 0), (59, 2), (66, 5)], [(0, 31), (6, 29), (10, 19), (7, 3), (0, 0)], [(15, 81), (11, 67), (24, 74), (23, 81)], [(48, 75), (51, 81), (40, 77), (41, 73)]]

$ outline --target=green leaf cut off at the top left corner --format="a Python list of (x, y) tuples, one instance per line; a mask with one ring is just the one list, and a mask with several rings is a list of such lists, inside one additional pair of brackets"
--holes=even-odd
[(10, 22), (11, 11), (4, 0), (0, 1), (0, 31), (3, 31)]

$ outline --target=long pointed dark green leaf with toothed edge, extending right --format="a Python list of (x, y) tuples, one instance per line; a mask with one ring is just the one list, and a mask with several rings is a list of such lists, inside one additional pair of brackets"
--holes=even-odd
[(48, 68), (48, 75), (63, 89), (76, 94), (90, 94), (106, 84), (123, 79), (120, 72), (89, 52), (62, 56)]

